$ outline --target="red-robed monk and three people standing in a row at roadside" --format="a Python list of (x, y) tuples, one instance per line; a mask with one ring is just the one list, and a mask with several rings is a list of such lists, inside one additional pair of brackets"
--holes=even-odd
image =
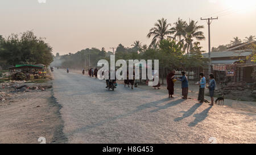
[[(175, 76), (175, 70), (172, 70), (172, 72), (170, 72), (167, 76), (167, 90), (169, 93), (169, 98), (174, 98), (174, 82), (176, 80), (180, 80), (181, 81), (181, 89), (182, 89), (182, 95), (183, 98), (182, 99), (188, 99), (188, 77), (185, 75), (185, 72), (181, 72), (182, 76), (181, 77), (176, 77)], [(200, 73), (200, 82), (197, 83), (197, 85), (199, 85), (199, 94), (197, 97), (197, 100), (200, 103), (204, 103), (204, 91), (205, 91), (205, 87), (207, 85), (206, 79), (204, 77), (204, 73)], [(209, 75), (210, 81), (209, 81), (209, 94), (210, 94), (210, 100), (211, 103), (209, 104), (210, 106), (213, 106), (213, 102), (214, 102), (214, 90), (216, 88), (216, 81), (214, 80), (214, 76), (213, 74)]]

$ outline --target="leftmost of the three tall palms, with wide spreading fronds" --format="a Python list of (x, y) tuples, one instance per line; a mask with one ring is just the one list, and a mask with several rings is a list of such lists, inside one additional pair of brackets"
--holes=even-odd
[(168, 35), (173, 34), (174, 31), (169, 27), (171, 27), (171, 24), (167, 24), (167, 19), (158, 19), (158, 22), (155, 23), (155, 27), (152, 27), (150, 32), (147, 34), (148, 38), (153, 36), (149, 47), (152, 47), (152, 45), (158, 45), (159, 41), (166, 39), (166, 37), (170, 37)]

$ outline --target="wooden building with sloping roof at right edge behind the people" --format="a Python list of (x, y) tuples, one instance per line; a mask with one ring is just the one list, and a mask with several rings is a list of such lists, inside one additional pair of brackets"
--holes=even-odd
[[(212, 73), (216, 77), (217, 83), (221, 82), (255, 82), (253, 78), (256, 64), (247, 59), (253, 54), (251, 45), (254, 43), (244, 43), (228, 48), (223, 52), (212, 52)], [(208, 53), (203, 56), (208, 58)], [(203, 69), (208, 78), (208, 67)]]

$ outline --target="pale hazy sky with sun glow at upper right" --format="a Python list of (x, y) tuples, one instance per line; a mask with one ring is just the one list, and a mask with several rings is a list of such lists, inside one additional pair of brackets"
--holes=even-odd
[(135, 40), (150, 44), (146, 35), (162, 17), (169, 23), (179, 17), (199, 20), (205, 26), (207, 40), (201, 45), (206, 51), (208, 27), (202, 16), (219, 16), (211, 25), (212, 46), (228, 44), (235, 36), (256, 36), (255, 0), (0, 0), (0, 15), (0, 35), (33, 30), (61, 55), (92, 47), (111, 51)]

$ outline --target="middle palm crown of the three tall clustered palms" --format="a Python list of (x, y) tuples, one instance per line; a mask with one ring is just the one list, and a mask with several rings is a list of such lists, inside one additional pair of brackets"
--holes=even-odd
[(177, 40), (181, 41), (181, 36), (185, 37), (186, 35), (185, 28), (188, 26), (188, 24), (179, 18), (174, 25), (175, 26), (171, 28), (171, 30), (175, 32), (174, 37), (177, 37)]

